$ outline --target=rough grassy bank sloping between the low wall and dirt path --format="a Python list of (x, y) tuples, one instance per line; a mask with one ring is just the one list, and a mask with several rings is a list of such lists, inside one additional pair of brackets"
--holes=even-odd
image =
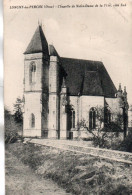
[(35, 173), (76, 195), (132, 194), (132, 165), (31, 143), (6, 145)]

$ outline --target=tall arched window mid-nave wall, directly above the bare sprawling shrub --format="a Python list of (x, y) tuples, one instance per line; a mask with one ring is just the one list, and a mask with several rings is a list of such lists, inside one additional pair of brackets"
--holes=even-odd
[(96, 110), (91, 108), (89, 111), (89, 129), (96, 128)]

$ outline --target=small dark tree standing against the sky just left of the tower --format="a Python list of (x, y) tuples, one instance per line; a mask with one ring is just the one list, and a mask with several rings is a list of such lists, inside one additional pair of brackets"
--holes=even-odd
[(18, 97), (16, 99), (16, 103), (14, 104), (14, 117), (16, 122), (22, 122), (23, 121), (23, 100)]

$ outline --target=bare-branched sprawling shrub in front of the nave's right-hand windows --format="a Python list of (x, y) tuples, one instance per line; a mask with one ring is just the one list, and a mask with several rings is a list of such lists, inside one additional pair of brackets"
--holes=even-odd
[(87, 132), (92, 134), (92, 141), (94, 146), (109, 148), (112, 139), (118, 136), (119, 132), (122, 132), (121, 126), (123, 122), (123, 117), (120, 112), (114, 112), (114, 122), (105, 123), (104, 114), (105, 108), (102, 106), (97, 106), (96, 110), (96, 129), (90, 129), (89, 123), (86, 120), (81, 120), (78, 124), (79, 129), (84, 128)]

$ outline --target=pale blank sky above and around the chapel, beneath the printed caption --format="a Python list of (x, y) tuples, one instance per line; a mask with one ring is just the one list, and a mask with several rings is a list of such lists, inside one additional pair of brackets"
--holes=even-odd
[[(76, 3), (75, 3), (76, 2)], [(76, 5), (126, 4), (77, 8)], [(35, 4), (37, 3), (37, 4)], [(75, 8), (10, 9), (17, 5), (75, 5)], [(23, 96), (24, 51), (38, 21), (61, 57), (102, 61), (118, 89), (126, 86), (132, 104), (132, 1), (4, 1), (4, 102), (13, 110)], [(108, 86), (109, 87), (109, 86)]]

